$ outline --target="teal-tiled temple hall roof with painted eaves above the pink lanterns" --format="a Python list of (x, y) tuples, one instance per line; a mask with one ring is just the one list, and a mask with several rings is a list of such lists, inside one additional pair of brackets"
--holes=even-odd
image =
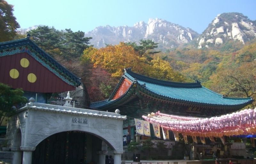
[[(91, 103), (91, 108), (114, 111), (141, 118), (145, 113), (161, 111), (186, 116), (210, 117), (234, 112), (252, 103), (252, 98), (228, 98), (201, 85), (200, 82), (169, 82), (125, 69), (115, 90), (104, 101)], [(134, 119), (124, 123), (124, 133), (134, 135)], [(130, 122), (129, 122), (130, 121)], [(127, 131), (128, 130), (128, 131)]]

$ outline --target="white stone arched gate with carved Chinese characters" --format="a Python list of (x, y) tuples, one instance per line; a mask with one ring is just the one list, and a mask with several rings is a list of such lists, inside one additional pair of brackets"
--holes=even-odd
[[(13, 164), (31, 164), (32, 152), (45, 138), (65, 131), (82, 131), (102, 140), (98, 151), (99, 164), (105, 164), (108, 145), (115, 164), (121, 163), (123, 153), (123, 120), (126, 116), (67, 106), (30, 102), (11, 117), (6, 137), (13, 151)], [(23, 157), (22, 157), (23, 152)]]

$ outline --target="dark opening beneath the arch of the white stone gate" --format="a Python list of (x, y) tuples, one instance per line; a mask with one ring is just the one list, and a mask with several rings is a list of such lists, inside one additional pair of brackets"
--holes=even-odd
[[(32, 164), (41, 163), (42, 159), (46, 160), (46, 154), (48, 154), (47, 162), (49, 163), (79, 163), (79, 160), (85, 159), (86, 162), (97, 163), (99, 153), (103, 151), (107, 152), (108, 148), (111, 148), (111, 145), (105, 142), (107, 141), (104, 138), (84, 131), (64, 131), (55, 133), (36, 145)], [(114, 151), (113, 147), (111, 150)], [(63, 156), (63, 154), (66, 155)], [(75, 159), (74, 154), (76, 156)]]

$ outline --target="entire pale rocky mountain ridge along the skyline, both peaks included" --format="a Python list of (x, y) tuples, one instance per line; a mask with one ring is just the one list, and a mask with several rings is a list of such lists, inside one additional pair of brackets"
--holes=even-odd
[[(42, 25), (38, 25), (42, 26)], [(20, 29), (25, 34), (38, 26)], [(256, 38), (256, 20), (238, 12), (218, 14), (202, 34), (189, 27), (163, 19), (149, 19), (147, 23), (139, 21), (133, 26), (109, 25), (99, 26), (86, 32), (85, 37), (92, 37), (91, 44), (95, 48), (105, 47), (107, 44), (119, 42), (139, 42), (141, 39), (150, 39), (158, 44), (159, 49), (171, 49), (182, 44), (192, 44), (195, 48), (218, 47), (230, 40), (245, 43)]]

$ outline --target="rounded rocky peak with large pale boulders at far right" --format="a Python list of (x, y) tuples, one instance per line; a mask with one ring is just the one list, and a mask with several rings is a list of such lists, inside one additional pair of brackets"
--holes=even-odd
[(256, 37), (255, 23), (237, 12), (218, 14), (197, 38), (198, 48), (208, 48), (228, 40), (242, 43), (252, 40)]

